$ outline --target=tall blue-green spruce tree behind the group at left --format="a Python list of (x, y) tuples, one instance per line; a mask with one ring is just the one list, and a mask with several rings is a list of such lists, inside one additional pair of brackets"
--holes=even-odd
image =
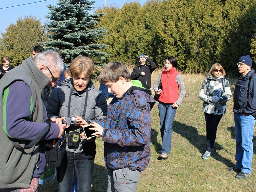
[(44, 43), (45, 49), (61, 50), (66, 63), (79, 55), (96, 61), (105, 59), (107, 45), (98, 41), (106, 35), (106, 29), (97, 27), (103, 13), (90, 13), (94, 3), (89, 0), (59, 0), (57, 6), (48, 5), (49, 41)]

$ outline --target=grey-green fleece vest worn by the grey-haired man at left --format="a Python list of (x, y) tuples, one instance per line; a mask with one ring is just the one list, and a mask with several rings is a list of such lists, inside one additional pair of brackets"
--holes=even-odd
[[(3, 92), (17, 80), (24, 81), (32, 93), (33, 113), (30, 121), (43, 123), (44, 108), (41, 94), (50, 78), (36, 67), (30, 57), (24, 60), (22, 65), (5, 74), (0, 81), (0, 191), (3, 188), (28, 188), (39, 156), (39, 144), (29, 149), (18, 150), (3, 130)], [(23, 148), (30, 142), (17, 141)]]

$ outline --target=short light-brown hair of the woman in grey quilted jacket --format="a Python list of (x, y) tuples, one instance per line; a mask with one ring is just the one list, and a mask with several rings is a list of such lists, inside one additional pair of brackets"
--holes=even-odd
[(70, 63), (71, 77), (81, 76), (84, 73), (85, 77), (91, 77), (94, 74), (95, 68), (92, 59), (89, 57), (78, 56)]

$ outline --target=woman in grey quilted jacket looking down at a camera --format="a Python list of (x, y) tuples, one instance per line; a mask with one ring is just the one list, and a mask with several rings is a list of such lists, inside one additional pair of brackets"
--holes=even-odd
[[(70, 64), (71, 78), (62, 81), (48, 100), (49, 118), (76, 117), (76, 124), (66, 129), (65, 156), (57, 168), (59, 192), (71, 191), (74, 169), (78, 191), (91, 191), (92, 172), (96, 153), (95, 137), (81, 141), (83, 125), (98, 122), (107, 114), (104, 94), (91, 81), (95, 68), (88, 57), (76, 57)], [(66, 119), (67, 121), (67, 119)]]

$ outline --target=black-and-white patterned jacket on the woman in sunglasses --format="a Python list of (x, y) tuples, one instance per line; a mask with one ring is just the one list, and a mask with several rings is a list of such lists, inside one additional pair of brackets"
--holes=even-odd
[[(223, 85), (225, 85), (224, 89)], [(220, 101), (217, 103), (209, 101), (209, 99), (213, 96), (220, 97)], [(204, 79), (199, 92), (199, 98), (204, 101), (202, 108), (203, 112), (214, 115), (226, 113), (226, 102), (230, 100), (231, 97), (232, 94), (230, 91), (229, 82), (223, 76), (215, 79), (213, 76), (208, 75), (207, 78)]]

